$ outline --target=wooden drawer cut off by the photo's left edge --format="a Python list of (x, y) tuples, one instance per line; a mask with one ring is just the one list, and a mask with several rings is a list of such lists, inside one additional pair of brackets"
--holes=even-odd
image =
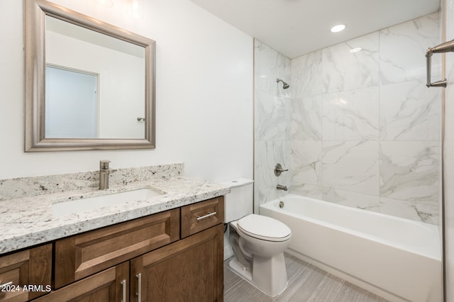
[[(0, 301), (28, 301), (50, 291), (52, 244), (0, 257)], [(23, 286), (27, 286), (24, 289)]]

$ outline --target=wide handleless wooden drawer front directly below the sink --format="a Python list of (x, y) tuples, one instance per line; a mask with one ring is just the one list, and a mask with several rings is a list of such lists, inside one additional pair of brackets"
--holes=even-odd
[(55, 288), (179, 239), (179, 209), (55, 242)]

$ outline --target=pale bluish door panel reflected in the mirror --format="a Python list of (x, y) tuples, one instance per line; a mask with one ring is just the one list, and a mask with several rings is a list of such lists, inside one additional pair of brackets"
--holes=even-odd
[(98, 74), (46, 65), (45, 137), (98, 137)]

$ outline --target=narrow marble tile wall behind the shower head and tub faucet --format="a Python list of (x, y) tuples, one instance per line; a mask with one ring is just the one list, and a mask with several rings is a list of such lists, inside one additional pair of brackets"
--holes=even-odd
[(254, 211), (260, 203), (287, 192), (277, 191), (277, 184), (289, 185), (290, 174), (275, 177), (277, 163), (290, 164), (292, 99), (289, 89), (282, 89), (276, 79), (291, 82), (292, 61), (259, 40), (254, 41)]

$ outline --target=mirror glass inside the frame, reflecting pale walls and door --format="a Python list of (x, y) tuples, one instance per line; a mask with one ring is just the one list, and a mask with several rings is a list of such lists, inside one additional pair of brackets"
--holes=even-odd
[(144, 47), (45, 16), (45, 48), (45, 138), (145, 138)]

